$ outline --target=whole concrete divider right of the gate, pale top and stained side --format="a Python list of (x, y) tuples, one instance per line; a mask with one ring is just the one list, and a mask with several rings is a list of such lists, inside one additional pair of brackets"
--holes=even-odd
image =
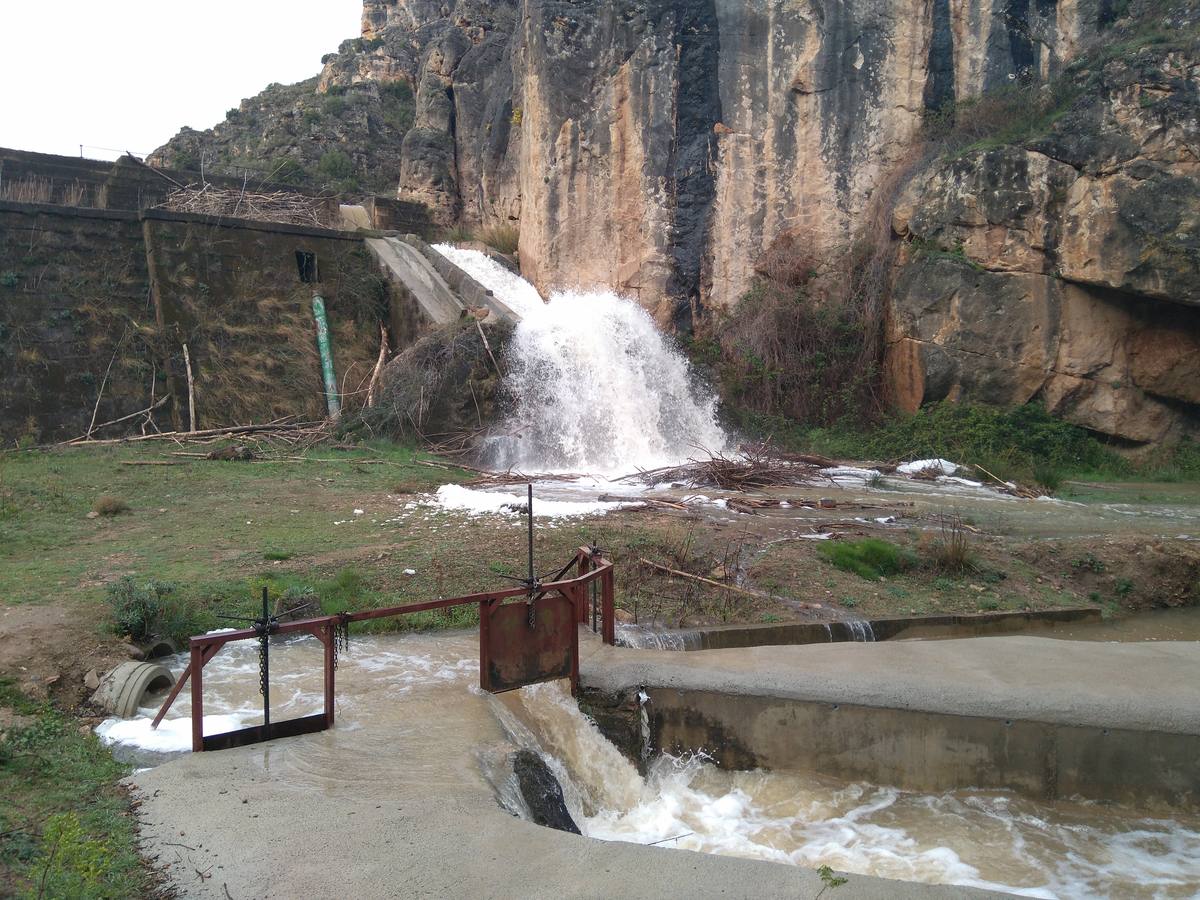
[(622, 746), (917, 791), (1187, 805), (1200, 646), (995, 637), (695, 653), (590, 648), (586, 700)]

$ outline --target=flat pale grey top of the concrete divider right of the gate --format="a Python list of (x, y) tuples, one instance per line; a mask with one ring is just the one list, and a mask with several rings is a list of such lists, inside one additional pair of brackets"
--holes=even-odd
[(589, 648), (589, 688), (689, 688), (1200, 736), (1200, 644), (1044, 637), (672, 653)]

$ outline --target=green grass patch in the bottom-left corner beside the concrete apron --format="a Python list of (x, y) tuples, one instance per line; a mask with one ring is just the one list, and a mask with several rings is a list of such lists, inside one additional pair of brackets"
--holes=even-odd
[(151, 876), (119, 781), (128, 769), (91, 733), (0, 679), (0, 707), (29, 721), (0, 740), (0, 894), (139, 898)]

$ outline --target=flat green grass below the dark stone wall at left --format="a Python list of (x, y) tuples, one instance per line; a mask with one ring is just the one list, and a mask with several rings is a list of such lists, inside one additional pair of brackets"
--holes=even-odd
[[(353, 510), (373, 499), (374, 512), (389, 493), (469, 478), (452, 467), (422, 466), (432, 457), (385, 442), (302, 456), (311, 462), (157, 467), (124, 463), (172, 458), (170, 449), (0, 454), (0, 598), (98, 602), (124, 575), (170, 582), (176, 595), (199, 600), (246, 593), (245, 572), (263, 568), (263, 548), (286, 548), (295, 563), (364, 542), (407, 544), (403, 532), (372, 526)], [(122, 498), (130, 511), (88, 518), (106, 493)]]

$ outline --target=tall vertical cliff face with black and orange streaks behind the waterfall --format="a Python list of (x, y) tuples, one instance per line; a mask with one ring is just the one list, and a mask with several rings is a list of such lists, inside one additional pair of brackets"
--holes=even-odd
[(542, 289), (686, 329), (781, 235), (833, 246), (925, 109), (1049, 77), (1103, 0), (366, 0), (323, 85), (403, 78), (401, 196), (514, 223)]

